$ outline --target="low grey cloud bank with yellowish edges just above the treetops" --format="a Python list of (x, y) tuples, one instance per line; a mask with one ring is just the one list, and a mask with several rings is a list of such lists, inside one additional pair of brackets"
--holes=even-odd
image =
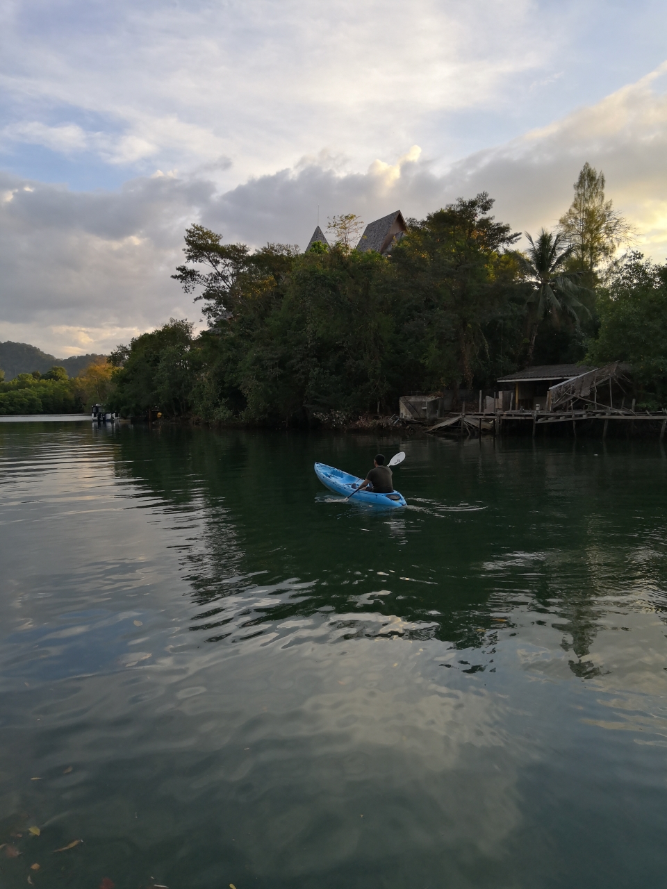
[[(170, 316), (198, 317), (170, 275), (183, 231), (202, 221), (225, 240), (308, 243), (340, 212), (367, 222), (401, 208), (421, 217), (486, 190), (515, 230), (552, 226), (585, 161), (605, 172), (607, 195), (639, 229), (639, 246), (667, 256), (667, 66), (591, 108), (470, 155), (445, 172), (417, 146), (365, 172), (326, 151), (221, 190), (202, 172), (141, 177), (115, 192), (0, 175), (0, 337), (12, 331), (58, 354), (105, 351)], [(224, 159), (221, 161), (224, 164)], [(64, 351), (65, 350), (65, 351)], [(68, 351), (67, 351), (68, 350)]]

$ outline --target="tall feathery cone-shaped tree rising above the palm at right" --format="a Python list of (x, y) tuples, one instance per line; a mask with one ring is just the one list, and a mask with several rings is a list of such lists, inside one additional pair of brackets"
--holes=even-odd
[(583, 271), (590, 286), (597, 283), (600, 265), (631, 241), (632, 228), (605, 200), (605, 175), (588, 161), (575, 182), (575, 199), (559, 219), (559, 234), (572, 245), (569, 268)]

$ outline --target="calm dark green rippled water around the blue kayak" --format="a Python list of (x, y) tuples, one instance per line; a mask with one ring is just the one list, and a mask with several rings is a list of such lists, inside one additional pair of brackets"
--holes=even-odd
[[(408, 509), (317, 483), (378, 449)], [(0, 455), (3, 886), (664, 885), (657, 442), (84, 420)]]

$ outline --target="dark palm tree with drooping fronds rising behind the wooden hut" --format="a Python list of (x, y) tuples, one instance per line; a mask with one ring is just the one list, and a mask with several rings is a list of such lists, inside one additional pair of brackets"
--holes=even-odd
[(567, 271), (566, 265), (575, 251), (574, 244), (568, 244), (561, 234), (552, 235), (546, 228), (537, 236), (537, 240), (526, 232), (530, 247), (525, 253), (517, 253), (519, 266), (527, 280), (533, 284), (533, 292), (526, 300), (528, 307), (528, 366), (533, 362), (533, 352), (537, 330), (544, 316), (550, 316), (554, 324), (561, 318), (579, 324), (577, 312), (591, 312), (577, 297), (590, 292), (586, 287), (577, 284), (581, 278), (580, 271)]

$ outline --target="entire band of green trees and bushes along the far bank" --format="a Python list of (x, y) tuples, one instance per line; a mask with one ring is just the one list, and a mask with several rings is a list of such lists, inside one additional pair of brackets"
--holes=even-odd
[(351, 248), (351, 213), (332, 220), (333, 247), (307, 253), (253, 252), (192, 225), (174, 277), (203, 303), (204, 332), (172, 319), (83, 377), (49, 380), (51, 402), (44, 377), (26, 374), (0, 387), (0, 402), (52, 405), (68, 387), (71, 404), (106, 402), (126, 416), (340, 423), (394, 412), (411, 392), (493, 389), (526, 364), (621, 359), (635, 369), (639, 406), (667, 406), (667, 266), (638, 252), (614, 259), (632, 233), (604, 186), (585, 164), (559, 227), (529, 238), (526, 252), (485, 193), (409, 220), (389, 256)]

